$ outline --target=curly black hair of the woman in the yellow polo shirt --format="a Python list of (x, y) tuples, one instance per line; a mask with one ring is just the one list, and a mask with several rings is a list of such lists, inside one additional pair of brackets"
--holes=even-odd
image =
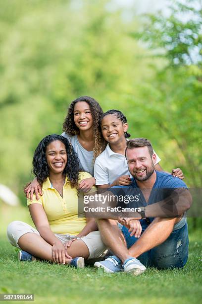
[(49, 166), (47, 163), (46, 150), (50, 143), (60, 141), (64, 144), (67, 153), (67, 164), (62, 174), (68, 177), (71, 187), (78, 187), (79, 172), (81, 171), (79, 159), (74, 152), (73, 147), (69, 144), (68, 140), (63, 136), (52, 134), (48, 135), (37, 146), (33, 157), (33, 173), (36, 175), (38, 182), (42, 185), (49, 176)]

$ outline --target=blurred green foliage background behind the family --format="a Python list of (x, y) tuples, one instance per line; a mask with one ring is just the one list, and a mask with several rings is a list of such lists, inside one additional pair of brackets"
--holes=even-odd
[(81, 95), (123, 111), (163, 169), (202, 186), (202, 2), (144, 16), (112, 2), (0, 0), (0, 183), (24, 205), (37, 144)]

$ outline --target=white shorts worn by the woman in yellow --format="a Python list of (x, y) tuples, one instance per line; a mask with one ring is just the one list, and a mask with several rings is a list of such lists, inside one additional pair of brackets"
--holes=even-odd
[[(21, 249), (18, 245), (18, 240), (22, 235), (26, 233), (36, 233), (40, 235), (39, 231), (36, 228), (33, 228), (32, 226), (24, 222), (14, 221), (8, 225), (7, 237), (11, 245), (13, 245), (14, 247)], [(72, 238), (75, 238), (75, 235), (69, 235), (69, 234), (55, 233), (55, 236), (62, 243)], [(88, 247), (89, 249), (88, 259), (96, 259), (102, 257), (107, 252), (107, 247), (101, 240), (100, 231), (90, 232), (88, 235), (79, 237), (78, 239), (81, 239)]]

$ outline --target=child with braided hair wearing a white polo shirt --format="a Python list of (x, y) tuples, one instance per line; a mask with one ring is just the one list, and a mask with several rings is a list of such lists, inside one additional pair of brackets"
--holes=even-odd
[[(127, 133), (127, 119), (118, 110), (105, 112), (100, 121), (102, 136), (108, 142), (106, 149), (96, 158), (94, 174), (99, 188), (124, 185), (131, 183), (130, 172), (125, 158)], [(155, 153), (155, 152), (154, 152)], [(155, 153), (156, 154), (156, 153)], [(162, 171), (160, 158), (156, 154), (155, 170)], [(180, 168), (173, 169), (172, 175), (184, 178)]]

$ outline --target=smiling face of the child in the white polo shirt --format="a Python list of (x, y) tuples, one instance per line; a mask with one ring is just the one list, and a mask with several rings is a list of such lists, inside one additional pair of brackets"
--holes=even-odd
[(114, 114), (108, 114), (101, 121), (102, 136), (108, 143), (118, 143), (125, 141), (124, 132), (128, 129), (128, 124), (123, 124)]

